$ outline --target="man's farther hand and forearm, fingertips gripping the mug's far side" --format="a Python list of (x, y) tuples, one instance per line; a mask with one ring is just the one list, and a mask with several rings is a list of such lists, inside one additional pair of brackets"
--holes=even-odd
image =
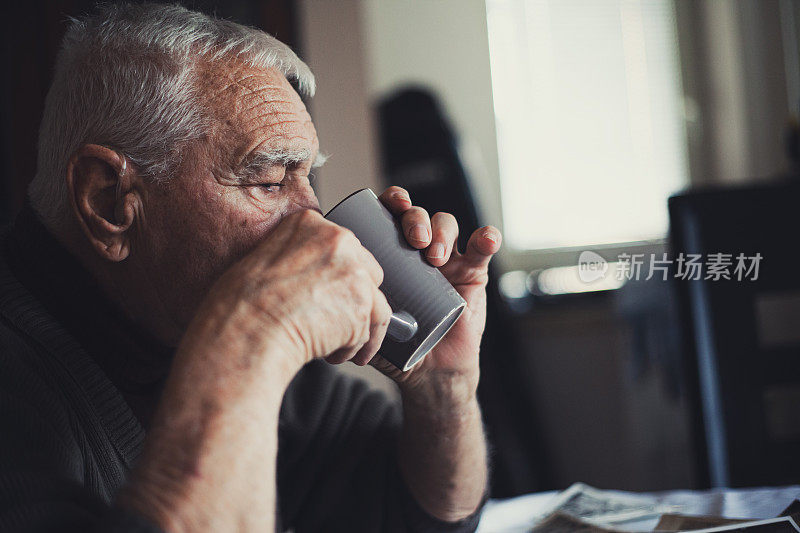
[(485, 494), (486, 442), (476, 398), (478, 351), (486, 322), (486, 282), (500, 232), (476, 230), (464, 253), (456, 249), (453, 215), (428, 213), (411, 204), (408, 193), (390, 187), (380, 196), (401, 217), (414, 248), (440, 268), (467, 302), (467, 308), (425, 359), (408, 372), (375, 357), (371, 364), (392, 377), (403, 399), (398, 462), (409, 489), (430, 514), (446, 521), (475, 512)]

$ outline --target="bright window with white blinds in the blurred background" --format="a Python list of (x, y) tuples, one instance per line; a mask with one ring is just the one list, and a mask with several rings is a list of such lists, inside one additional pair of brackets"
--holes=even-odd
[(663, 238), (688, 172), (672, 2), (486, 6), (506, 243)]

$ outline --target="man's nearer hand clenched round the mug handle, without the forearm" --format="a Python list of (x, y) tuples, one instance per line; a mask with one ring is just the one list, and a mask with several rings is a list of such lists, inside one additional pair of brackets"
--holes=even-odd
[(269, 330), (288, 341), (294, 375), (314, 358), (341, 363), (375, 354), (392, 313), (382, 281), (380, 265), (350, 230), (304, 210), (229, 269), (208, 300), (232, 296), (231, 305), (252, 313), (249, 334)]

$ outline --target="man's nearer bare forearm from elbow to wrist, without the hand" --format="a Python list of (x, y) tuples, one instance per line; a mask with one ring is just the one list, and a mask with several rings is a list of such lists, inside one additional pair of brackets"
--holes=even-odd
[(173, 532), (274, 529), (278, 417), (293, 372), (280, 345), (246, 333), (213, 316), (190, 330), (119, 505)]

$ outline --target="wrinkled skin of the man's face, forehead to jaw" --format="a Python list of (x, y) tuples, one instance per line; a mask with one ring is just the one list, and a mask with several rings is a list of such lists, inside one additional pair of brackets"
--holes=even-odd
[[(319, 210), (308, 181), (312, 161), (275, 167), (244, 185), (237, 166), (256, 149), (319, 147), (299, 95), (276, 71), (208, 67), (201, 90), (210, 95), (213, 128), (190, 147), (181, 172), (148, 190), (137, 244), (151, 258), (150, 278), (177, 323), (175, 343), (213, 281), (252, 250), (283, 217)], [(263, 183), (283, 182), (267, 189)], [(173, 280), (182, 283), (175, 284)]]

